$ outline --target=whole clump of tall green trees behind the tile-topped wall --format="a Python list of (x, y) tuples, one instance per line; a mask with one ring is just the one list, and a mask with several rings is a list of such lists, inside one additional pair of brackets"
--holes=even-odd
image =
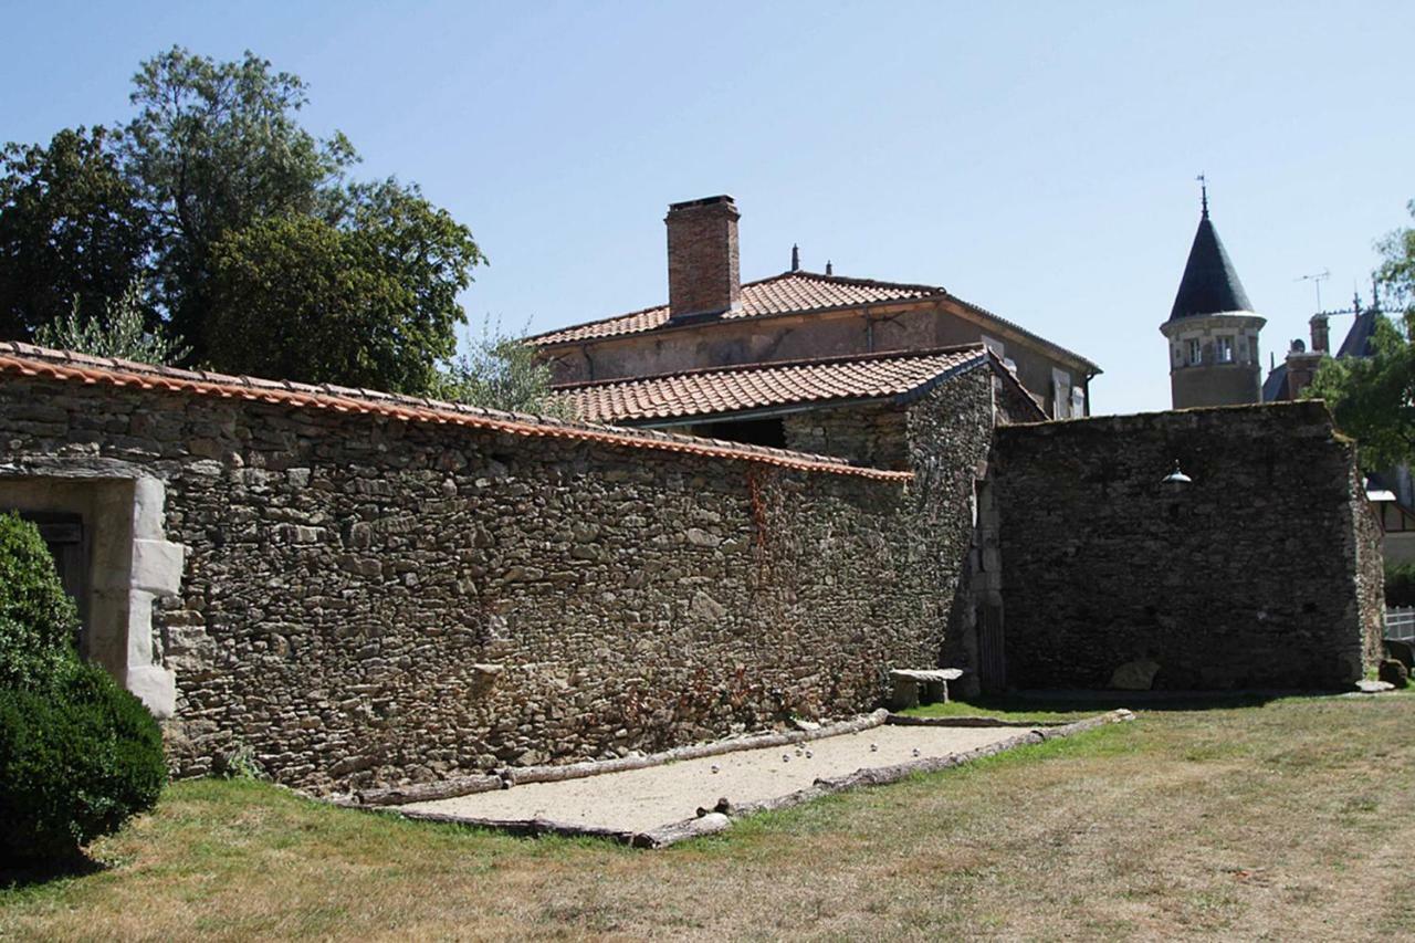
[[(347, 180), (352, 144), (306, 130), (306, 84), (252, 52), (174, 47), (142, 64), (130, 99), (117, 132), (6, 152), (0, 337), (58, 324), (110, 353), (132, 327), (112, 314), (142, 309), (143, 336), (161, 343), (164, 321), (164, 350), (187, 364), (433, 389), (485, 261), (464, 225), (416, 185)], [(6, 295), (8, 270), (23, 278)], [(146, 297), (119, 303), (139, 275)]]

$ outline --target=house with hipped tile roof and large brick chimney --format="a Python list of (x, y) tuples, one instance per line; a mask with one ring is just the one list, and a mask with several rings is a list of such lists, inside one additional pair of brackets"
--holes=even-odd
[(741, 283), (732, 197), (668, 208), (668, 304), (531, 338), (558, 384), (662, 377), (985, 344), (1047, 416), (1090, 415), (1094, 362), (942, 287), (843, 278), (831, 266)]

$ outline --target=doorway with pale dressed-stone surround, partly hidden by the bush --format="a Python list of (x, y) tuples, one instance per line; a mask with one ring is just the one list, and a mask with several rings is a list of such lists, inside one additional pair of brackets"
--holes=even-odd
[(177, 592), (183, 548), (163, 535), (163, 483), (151, 477), (0, 476), (0, 511), (35, 521), (79, 606), (79, 653), (156, 716), (175, 685), (153, 640), (153, 603)]

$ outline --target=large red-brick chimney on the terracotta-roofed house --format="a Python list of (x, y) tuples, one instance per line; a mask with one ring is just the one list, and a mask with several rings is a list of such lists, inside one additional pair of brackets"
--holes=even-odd
[(668, 317), (712, 317), (741, 304), (737, 204), (705, 197), (668, 205)]

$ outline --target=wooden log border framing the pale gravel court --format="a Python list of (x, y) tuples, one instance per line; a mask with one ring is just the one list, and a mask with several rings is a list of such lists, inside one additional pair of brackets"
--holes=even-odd
[[(821, 728), (818, 731), (795, 731), (792, 733), (771, 733), (758, 738), (741, 738), (740, 741), (720, 741), (717, 743), (703, 743), (696, 749), (703, 748), (722, 748), (724, 743), (734, 745), (733, 749), (753, 749), (753, 746), (743, 746), (743, 743), (750, 743), (756, 741), (754, 746), (780, 746), (781, 743), (798, 743), (802, 739), (819, 739), (821, 736), (831, 736), (832, 733), (853, 733), (856, 729), (869, 729), (870, 726), (879, 726), (884, 722), (883, 715), (886, 711), (876, 711), (874, 714), (850, 721), (848, 724), (838, 724), (831, 728)], [(874, 719), (879, 718), (879, 719)], [(1016, 726), (1022, 722), (1013, 721), (998, 721), (996, 718), (910, 718), (910, 721), (959, 721), (959, 719), (985, 719), (993, 721), (993, 724), (927, 724), (923, 726)], [(993, 756), (1002, 753), (1003, 750), (1010, 750), (1015, 746), (1024, 746), (1027, 743), (1044, 743), (1046, 741), (1071, 736), (1074, 733), (1084, 733), (1085, 731), (1094, 731), (1109, 724), (1124, 724), (1126, 721), (1133, 721), (1135, 714), (1119, 708), (1101, 714), (1099, 716), (1087, 718), (1084, 721), (1074, 721), (1070, 724), (1027, 724), (1029, 728), (1024, 733), (1017, 733), (1016, 736), (1009, 736), (1005, 741), (998, 741), (996, 743), (989, 743), (986, 746), (979, 746), (976, 749), (965, 750), (962, 753), (949, 753), (947, 756), (925, 756), (923, 759), (910, 760), (907, 763), (896, 763), (893, 766), (876, 766), (873, 769), (859, 769), (848, 776), (836, 776), (832, 779), (818, 779), (811, 786), (799, 789), (794, 793), (785, 796), (775, 796), (773, 799), (764, 799), (756, 803), (743, 803), (734, 806), (730, 800), (720, 800), (713, 808), (699, 808), (698, 816), (693, 818), (685, 818), (682, 821), (668, 823), (666, 825), (659, 825), (658, 828), (651, 828), (648, 831), (627, 831), (618, 828), (601, 828), (597, 825), (580, 825), (572, 823), (553, 821), (550, 818), (475, 818), (471, 816), (449, 816), (446, 813), (427, 813), (427, 811), (413, 811), (409, 808), (376, 808), (376, 811), (385, 811), (402, 818), (412, 818), (417, 821), (437, 821), (450, 823), (457, 825), (467, 825), (473, 828), (492, 828), (497, 831), (505, 831), (512, 835), (570, 835), (570, 837), (591, 837), (591, 838), (608, 838), (610, 841), (618, 841), (634, 848), (666, 848), (668, 845), (685, 841), (688, 838), (698, 838), (700, 835), (709, 835), (717, 831), (729, 828), (734, 818), (741, 818), (743, 816), (753, 816), (763, 811), (774, 811), (777, 808), (790, 808), (791, 806), (798, 806), (801, 803), (808, 803), (812, 799), (821, 799), (822, 796), (829, 796), (832, 793), (841, 793), (848, 789), (859, 789), (862, 786), (886, 786), (889, 783), (897, 783), (901, 779), (907, 779), (916, 773), (937, 773), (940, 770), (952, 769), (954, 766), (962, 766), (964, 763), (971, 763), (976, 759), (985, 756)], [(872, 724), (865, 724), (865, 721), (873, 721)], [(846, 726), (855, 726), (855, 729), (842, 729)], [(831, 732), (826, 732), (831, 731)], [(798, 733), (809, 733), (811, 736), (797, 736), (797, 739), (775, 739), (784, 736), (795, 736)], [(770, 739), (771, 742), (761, 742)], [(668, 750), (668, 753), (676, 755), (675, 759), (695, 759), (695, 756), (716, 756), (719, 753), (732, 752), (729, 749), (712, 749), (710, 752), (696, 753), (695, 756), (683, 756), (685, 750), (695, 748), (681, 748), (679, 750)], [(657, 756), (665, 756), (665, 753), (658, 753)], [(627, 758), (627, 759), (648, 759), (648, 758)], [(607, 760), (607, 763), (617, 763), (621, 760)], [(668, 762), (668, 760), (659, 760)], [(606, 765), (607, 765), (606, 763)], [(618, 769), (642, 769), (644, 766), (651, 766), (652, 763), (644, 763), (642, 766), (627, 766)], [(577, 763), (576, 766), (590, 766), (590, 763)], [(536, 767), (526, 767), (536, 769)], [(560, 767), (567, 769), (567, 767)], [(601, 769), (600, 772), (617, 772), (616, 769)], [(582, 776), (591, 776), (594, 773), (583, 773)], [(563, 779), (579, 779), (580, 776), (566, 776)], [(553, 780), (522, 780), (522, 782), (553, 782)], [(392, 791), (392, 790), (388, 790)], [(466, 794), (466, 793), (463, 793)], [(374, 803), (364, 803), (365, 808), (374, 807)]]

